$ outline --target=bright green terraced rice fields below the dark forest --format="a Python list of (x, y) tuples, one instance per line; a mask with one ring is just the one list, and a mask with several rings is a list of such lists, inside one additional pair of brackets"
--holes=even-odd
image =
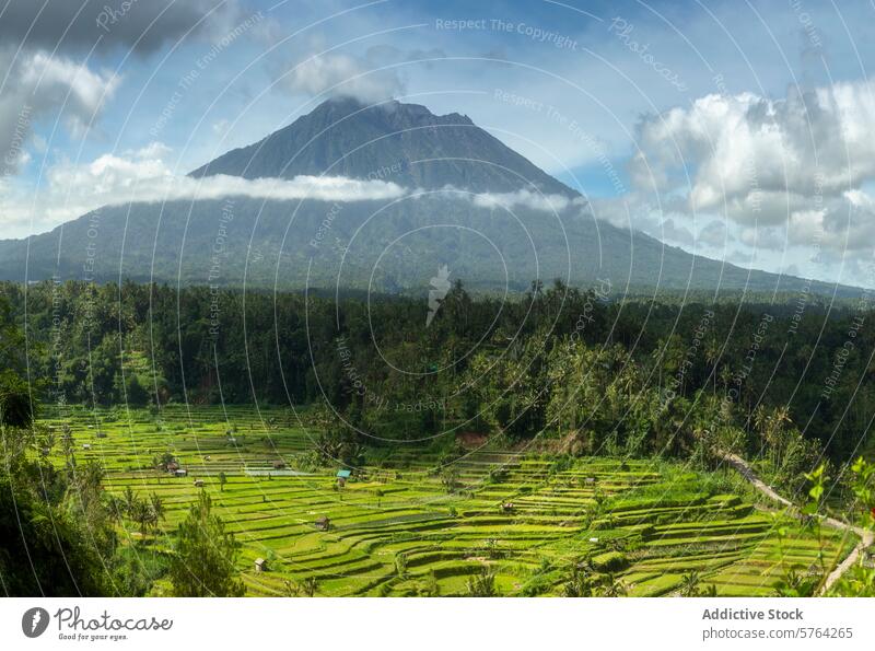
[[(813, 532), (732, 495), (719, 474), (651, 460), (480, 449), (452, 464), (450, 492), (436, 458), (397, 450), (339, 487), (339, 467), (303, 463), (311, 437), (284, 410), (80, 409), (45, 422), (70, 425), (78, 461), (100, 461), (108, 491), (163, 498), (165, 533), (143, 542), (126, 523), (128, 544), (168, 547), (202, 483), (243, 544), (252, 595), (295, 593), (308, 580), (328, 596), (459, 595), (485, 567), (503, 595), (558, 595), (581, 562), (630, 595), (677, 593), (692, 571), (721, 595), (768, 595), (791, 567), (819, 566)], [(165, 452), (187, 476), (154, 469)], [(830, 560), (854, 544), (822, 536)]]

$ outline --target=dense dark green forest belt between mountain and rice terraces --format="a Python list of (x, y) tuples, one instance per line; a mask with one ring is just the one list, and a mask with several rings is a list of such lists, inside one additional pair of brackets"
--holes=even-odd
[(728, 428), (750, 452), (808, 455), (810, 441), (838, 461), (875, 415), (865, 295), (615, 301), (557, 282), (504, 300), (456, 283), (427, 327), (425, 297), (0, 289), (48, 404), (320, 402), (378, 438), (573, 430), (583, 449), (634, 453), (691, 453)]

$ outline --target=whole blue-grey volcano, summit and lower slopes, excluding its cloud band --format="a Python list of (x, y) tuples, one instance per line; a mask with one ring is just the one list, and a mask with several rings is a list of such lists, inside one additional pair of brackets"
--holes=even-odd
[[(595, 220), (578, 193), (458, 114), (332, 100), (191, 176), (380, 179), (396, 201), (245, 197), (107, 207), (25, 241), (0, 241), (0, 278), (164, 280), (279, 288), (428, 288), (439, 269), (486, 291), (561, 278), (625, 288), (795, 291), (797, 278), (748, 271)], [(558, 197), (560, 209), (478, 200)], [(810, 291), (833, 287), (813, 283)], [(851, 292), (839, 288), (840, 293)]]

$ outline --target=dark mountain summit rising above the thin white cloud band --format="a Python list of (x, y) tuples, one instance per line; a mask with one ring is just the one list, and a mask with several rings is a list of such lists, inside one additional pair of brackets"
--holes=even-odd
[[(376, 171), (393, 170), (389, 177)], [(246, 178), (375, 177), (408, 187), (453, 186), (476, 193), (539, 189), (576, 193), (459, 113), (435, 115), (421, 104), (326, 100), (260, 142), (231, 151), (192, 176)]]

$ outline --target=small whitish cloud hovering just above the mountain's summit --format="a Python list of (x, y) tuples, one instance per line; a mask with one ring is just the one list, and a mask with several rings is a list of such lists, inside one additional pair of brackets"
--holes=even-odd
[(282, 77), (287, 90), (310, 96), (347, 96), (365, 103), (404, 94), (395, 69), (378, 70), (365, 59), (326, 54), (305, 59)]

